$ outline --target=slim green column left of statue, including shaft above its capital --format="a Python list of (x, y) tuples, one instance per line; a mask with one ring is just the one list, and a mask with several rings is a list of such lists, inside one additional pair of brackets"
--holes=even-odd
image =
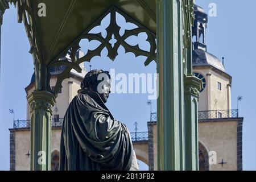
[(27, 96), (31, 113), (31, 170), (51, 170), (51, 116), (55, 96), (49, 80), (51, 74), (46, 64), (32, 52), (35, 70), (35, 90)]

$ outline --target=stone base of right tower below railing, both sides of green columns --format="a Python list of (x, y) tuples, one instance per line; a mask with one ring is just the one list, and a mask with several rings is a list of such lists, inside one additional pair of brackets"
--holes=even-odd
[[(205, 170), (237, 171), (242, 170), (242, 127), (243, 118), (207, 119), (199, 122), (199, 149), (203, 152)], [(156, 122), (148, 123), (148, 159), (150, 170), (157, 167), (157, 126)], [(239, 131), (240, 133), (239, 133)], [(150, 135), (150, 133), (153, 134)], [(237, 132), (238, 131), (238, 132)], [(153, 143), (151, 143), (153, 141)], [(152, 146), (153, 145), (153, 146)], [(209, 154), (216, 152), (216, 164), (209, 164)], [(153, 155), (152, 155), (153, 154)], [(221, 164), (224, 160), (223, 167)]]

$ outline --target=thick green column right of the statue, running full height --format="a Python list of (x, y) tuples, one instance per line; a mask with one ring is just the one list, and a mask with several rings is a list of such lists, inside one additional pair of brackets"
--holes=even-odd
[(157, 0), (158, 169), (184, 169), (180, 0)]

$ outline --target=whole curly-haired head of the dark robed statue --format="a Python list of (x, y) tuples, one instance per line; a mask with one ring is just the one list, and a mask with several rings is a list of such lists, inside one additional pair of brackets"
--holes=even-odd
[(108, 71), (93, 69), (86, 73), (81, 82), (81, 89), (88, 89), (97, 92), (101, 100), (106, 103), (110, 94), (110, 75)]

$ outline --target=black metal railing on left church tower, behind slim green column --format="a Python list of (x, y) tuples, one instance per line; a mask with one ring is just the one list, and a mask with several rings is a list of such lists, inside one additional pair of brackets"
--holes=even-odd
[[(63, 123), (63, 118), (53, 118), (52, 119), (52, 127), (61, 127)], [(31, 120), (15, 120), (13, 122), (14, 129), (22, 129), (22, 128), (30, 128)]]

